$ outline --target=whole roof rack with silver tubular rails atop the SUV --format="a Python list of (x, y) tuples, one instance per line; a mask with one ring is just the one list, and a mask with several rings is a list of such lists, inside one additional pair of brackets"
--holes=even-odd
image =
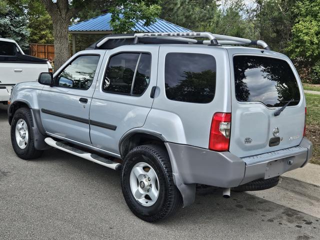
[[(205, 37), (209, 40), (197, 40), (192, 38)], [(148, 41), (146, 38), (155, 38), (156, 41)], [(161, 40), (160, 40), (161, 39)], [(120, 40), (117, 43), (113, 43), (114, 48), (119, 45), (136, 44), (136, 43), (194, 43), (194, 44), (208, 44), (208, 45), (257, 45), (263, 49), (271, 50), (268, 44), (262, 40), (250, 40), (246, 38), (240, 38), (235, 36), (212, 34), (210, 32), (145, 32), (134, 34), (118, 34), (109, 35), (99, 40), (94, 48), (104, 48), (103, 46), (110, 40)]]

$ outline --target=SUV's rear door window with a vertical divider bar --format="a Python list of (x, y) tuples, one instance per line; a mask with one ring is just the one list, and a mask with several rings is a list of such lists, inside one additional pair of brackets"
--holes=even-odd
[(111, 93), (141, 95), (149, 84), (151, 55), (120, 53), (110, 58), (103, 90)]

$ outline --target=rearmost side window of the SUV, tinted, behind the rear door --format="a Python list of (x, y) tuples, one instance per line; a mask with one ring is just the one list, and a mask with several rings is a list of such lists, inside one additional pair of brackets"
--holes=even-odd
[(216, 64), (212, 55), (171, 52), (165, 56), (164, 67), (168, 99), (194, 103), (213, 100)]

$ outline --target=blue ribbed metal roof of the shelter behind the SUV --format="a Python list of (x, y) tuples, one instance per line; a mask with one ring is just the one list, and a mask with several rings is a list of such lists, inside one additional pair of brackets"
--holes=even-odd
[[(110, 25), (111, 13), (105, 13), (91, 19), (77, 22), (69, 26), (69, 31), (112, 31)], [(188, 32), (191, 31), (182, 26), (178, 26), (166, 20), (156, 18), (155, 22), (149, 26), (143, 26), (144, 21), (139, 20), (133, 31), (139, 32)]]

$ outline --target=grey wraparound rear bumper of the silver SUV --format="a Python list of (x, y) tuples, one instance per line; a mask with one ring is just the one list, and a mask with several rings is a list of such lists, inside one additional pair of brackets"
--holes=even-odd
[(170, 142), (165, 145), (178, 188), (179, 185), (195, 183), (235, 187), (301, 167), (312, 155), (312, 143), (305, 137), (298, 146), (243, 158), (230, 152), (216, 152)]

